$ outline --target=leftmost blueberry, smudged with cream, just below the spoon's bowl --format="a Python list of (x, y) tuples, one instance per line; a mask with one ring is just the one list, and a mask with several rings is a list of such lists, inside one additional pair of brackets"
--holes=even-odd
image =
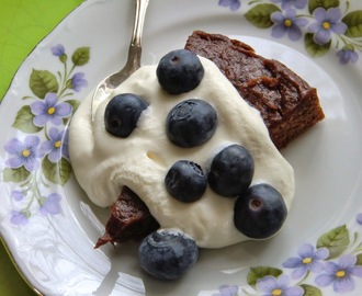
[(115, 95), (105, 107), (105, 129), (113, 136), (128, 137), (135, 129), (145, 109), (147, 109), (146, 102), (136, 94), (122, 93)]

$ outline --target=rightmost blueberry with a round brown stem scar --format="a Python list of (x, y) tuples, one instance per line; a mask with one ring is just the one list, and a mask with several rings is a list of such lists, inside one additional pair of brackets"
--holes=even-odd
[(281, 229), (286, 214), (282, 195), (269, 184), (257, 184), (236, 200), (234, 224), (245, 236), (264, 239)]

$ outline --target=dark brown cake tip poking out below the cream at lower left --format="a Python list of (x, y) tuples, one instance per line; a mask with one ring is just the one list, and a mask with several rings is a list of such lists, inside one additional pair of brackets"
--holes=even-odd
[(159, 224), (149, 213), (145, 203), (128, 187), (124, 186), (105, 225), (104, 235), (94, 248), (104, 243), (125, 242), (142, 239), (159, 228)]

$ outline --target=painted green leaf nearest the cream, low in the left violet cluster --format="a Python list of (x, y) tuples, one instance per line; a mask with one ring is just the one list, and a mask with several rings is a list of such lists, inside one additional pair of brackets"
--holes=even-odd
[(48, 157), (42, 161), (44, 177), (55, 184), (65, 185), (71, 174), (71, 166), (68, 160), (61, 158), (59, 162), (54, 163)]

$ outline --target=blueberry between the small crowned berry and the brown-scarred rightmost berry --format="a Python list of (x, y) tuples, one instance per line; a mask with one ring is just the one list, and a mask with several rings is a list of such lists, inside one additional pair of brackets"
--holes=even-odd
[(249, 151), (240, 145), (230, 145), (213, 159), (208, 184), (222, 196), (236, 197), (249, 187), (253, 168), (253, 159)]

